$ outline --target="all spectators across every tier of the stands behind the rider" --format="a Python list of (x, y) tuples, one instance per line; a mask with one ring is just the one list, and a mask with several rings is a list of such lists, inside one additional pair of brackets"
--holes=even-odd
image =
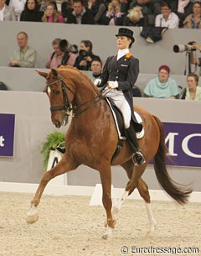
[[(0, 21), (4, 20), (201, 29), (201, 1), (66, 0), (59, 11), (54, 0), (0, 0)], [(28, 34), (19, 32), (17, 41), (18, 49), (13, 52), (9, 65), (34, 67), (37, 51), (28, 46)], [(198, 49), (200, 45), (196, 45)], [(101, 76), (101, 57), (93, 53), (90, 40), (82, 40), (77, 47), (65, 39), (54, 39), (52, 47), (46, 68), (72, 65), (81, 71), (92, 71), (92, 81)], [(201, 64), (201, 58), (192, 57), (192, 61)], [(168, 65), (160, 66), (158, 76), (148, 81), (144, 91), (135, 87), (133, 96), (200, 100), (201, 92), (196, 92), (197, 76), (188, 76), (187, 89), (181, 93), (181, 88), (169, 74)]]

